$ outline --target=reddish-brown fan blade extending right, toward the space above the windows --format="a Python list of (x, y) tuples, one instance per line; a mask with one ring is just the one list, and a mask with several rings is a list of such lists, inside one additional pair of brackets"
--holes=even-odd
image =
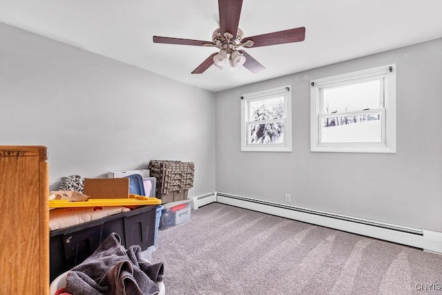
[(243, 38), (241, 40), (244, 43), (247, 40), (253, 41), (253, 47), (269, 46), (276, 44), (285, 44), (291, 42), (304, 41), (305, 39), (305, 27), (294, 28), (290, 30), (281, 30), (279, 32), (269, 32), (268, 34), (256, 35), (252, 37)]

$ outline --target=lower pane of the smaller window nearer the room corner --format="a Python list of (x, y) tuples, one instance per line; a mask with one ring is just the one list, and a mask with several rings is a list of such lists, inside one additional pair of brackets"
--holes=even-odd
[(250, 124), (249, 144), (284, 143), (284, 123)]

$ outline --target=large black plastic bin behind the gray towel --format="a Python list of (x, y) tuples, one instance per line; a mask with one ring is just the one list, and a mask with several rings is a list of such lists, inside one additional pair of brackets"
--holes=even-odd
[(140, 245), (146, 250), (155, 238), (157, 206), (144, 206), (126, 213), (50, 231), (50, 281), (82, 263), (106, 238), (117, 233), (124, 247)]

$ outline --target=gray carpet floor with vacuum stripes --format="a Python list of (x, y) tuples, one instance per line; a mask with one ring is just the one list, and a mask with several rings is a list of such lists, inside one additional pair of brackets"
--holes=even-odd
[(442, 294), (442, 256), (213, 203), (158, 232), (166, 294)]

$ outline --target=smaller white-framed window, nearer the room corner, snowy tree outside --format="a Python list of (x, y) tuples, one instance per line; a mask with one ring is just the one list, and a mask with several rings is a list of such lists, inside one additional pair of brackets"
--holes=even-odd
[(289, 86), (241, 97), (241, 151), (291, 151)]

